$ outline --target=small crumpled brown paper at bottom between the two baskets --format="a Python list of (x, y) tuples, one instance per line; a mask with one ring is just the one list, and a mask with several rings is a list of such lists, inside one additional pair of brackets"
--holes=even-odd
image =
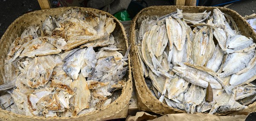
[(148, 121), (157, 118), (156, 115), (150, 115), (146, 112), (137, 112), (135, 116), (129, 116), (125, 121)]

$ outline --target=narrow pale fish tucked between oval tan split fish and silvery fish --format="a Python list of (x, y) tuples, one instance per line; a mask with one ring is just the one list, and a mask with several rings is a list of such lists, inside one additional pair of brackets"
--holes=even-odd
[(212, 69), (214, 72), (217, 72), (222, 64), (224, 58), (224, 52), (219, 45), (216, 45), (212, 58), (207, 62), (206, 67)]

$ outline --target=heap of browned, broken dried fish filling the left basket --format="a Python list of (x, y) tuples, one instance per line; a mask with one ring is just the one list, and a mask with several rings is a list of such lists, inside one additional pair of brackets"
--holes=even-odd
[(115, 27), (113, 18), (79, 9), (29, 26), (10, 46), (0, 107), (45, 117), (106, 107), (120, 95), (128, 69), (129, 50), (117, 48)]

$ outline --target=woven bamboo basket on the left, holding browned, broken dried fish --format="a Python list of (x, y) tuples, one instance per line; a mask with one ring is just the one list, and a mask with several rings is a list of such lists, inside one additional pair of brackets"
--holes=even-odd
[[(63, 7), (63, 8), (56, 8), (56, 9), (44, 9), (35, 12), (30, 12), (24, 14), (17, 18), (6, 30), (4, 35), (0, 40), (0, 64), (3, 65), (4, 60), (6, 58), (7, 52), (9, 50), (10, 45), (14, 41), (16, 37), (21, 35), (24, 29), (31, 25), (42, 25), (42, 21), (46, 19), (47, 16), (55, 16), (63, 14), (67, 10), (71, 8), (79, 8), (79, 7)], [(82, 13), (85, 12), (95, 12), (95, 13), (102, 13), (106, 14), (107, 17), (113, 17), (113, 15), (103, 12), (97, 9), (90, 9), (90, 8), (79, 8)], [(118, 36), (115, 38), (119, 40), (120, 45), (119, 47), (124, 49), (124, 52), (128, 49), (128, 40), (125, 34), (125, 29), (122, 24), (117, 20), (115, 17), (114, 22), (116, 23), (116, 28), (113, 32), (113, 35)], [(4, 109), (0, 108), (0, 120), (12, 120), (12, 121), (45, 121), (45, 120), (57, 120), (57, 121), (94, 121), (94, 120), (110, 120), (115, 118), (126, 118), (128, 112), (128, 103), (131, 98), (131, 91), (132, 91), (132, 81), (131, 81), (131, 61), (130, 55), (128, 56), (128, 73), (125, 76), (127, 84), (122, 89), (122, 94), (109, 104), (107, 107), (103, 109), (96, 110), (95, 112), (90, 112), (83, 115), (77, 115), (74, 117), (37, 117), (37, 116), (26, 116), (26, 115), (18, 115)], [(0, 66), (1, 71), (3, 70), (3, 66)], [(0, 84), (3, 84), (3, 75), (0, 76)], [(0, 92), (1, 93), (1, 92)]]

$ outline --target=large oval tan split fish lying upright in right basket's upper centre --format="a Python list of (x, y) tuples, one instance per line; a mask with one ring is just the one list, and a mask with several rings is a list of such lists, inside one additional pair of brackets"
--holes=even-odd
[(192, 41), (191, 58), (197, 65), (204, 66), (212, 57), (215, 44), (213, 42), (212, 28), (204, 26)]

